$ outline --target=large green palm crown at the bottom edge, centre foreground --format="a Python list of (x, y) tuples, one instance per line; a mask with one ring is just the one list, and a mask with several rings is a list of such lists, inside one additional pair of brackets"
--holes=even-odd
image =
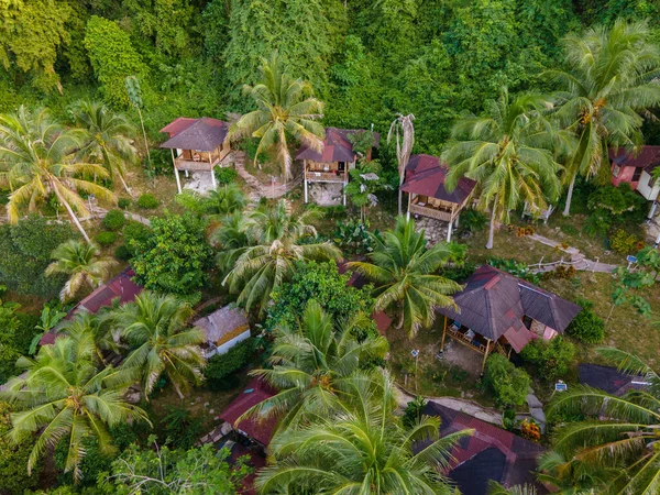
[(354, 382), (353, 407), (276, 435), (270, 444), (275, 463), (256, 477), (260, 493), (454, 493), (439, 471), (472, 431), (440, 438), (440, 420), (430, 417), (405, 427), (394, 415), (389, 377), (374, 372), (371, 382)]

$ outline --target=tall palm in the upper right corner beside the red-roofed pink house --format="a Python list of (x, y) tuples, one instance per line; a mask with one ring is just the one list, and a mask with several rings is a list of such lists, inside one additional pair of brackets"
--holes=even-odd
[(609, 147), (632, 151), (641, 144), (640, 113), (660, 102), (660, 50), (646, 22), (624, 20), (570, 34), (563, 44), (566, 70), (549, 74), (563, 86), (556, 117), (578, 138), (566, 164), (568, 216), (578, 175), (605, 178)]

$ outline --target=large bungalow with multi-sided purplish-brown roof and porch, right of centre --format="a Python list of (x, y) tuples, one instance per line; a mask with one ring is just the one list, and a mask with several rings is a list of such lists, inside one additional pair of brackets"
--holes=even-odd
[[(458, 310), (438, 308), (444, 316), (444, 338), (483, 354), (482, 371), (492, 352), (509, 358), (534, 339), (563, 333), (582, 308), (490, 265), (482, 265), (453, 295)], [(451, 320), (451, 324), (450, 321)]]

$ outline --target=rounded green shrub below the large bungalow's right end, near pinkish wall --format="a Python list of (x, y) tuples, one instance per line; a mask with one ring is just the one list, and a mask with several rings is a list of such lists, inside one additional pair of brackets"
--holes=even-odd
[(525, 361), (536, 366), (538, 376), (546, 381), (565, 375), (574, 355), (575, 346), (562, 337), (551, 341), (536, 339), (520, 353)]

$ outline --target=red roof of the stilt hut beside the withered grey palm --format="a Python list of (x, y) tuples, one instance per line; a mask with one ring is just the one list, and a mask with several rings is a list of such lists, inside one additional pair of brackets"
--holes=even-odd
[(413, 155), (406, 165), (406, 178), (402, 190), (462, 205), (476, 186), (476, 182), (461, 177), (457, 188), (449, 193), (444, 188), (447, 173), (447, 165), (440, 164), (437, 156)]

